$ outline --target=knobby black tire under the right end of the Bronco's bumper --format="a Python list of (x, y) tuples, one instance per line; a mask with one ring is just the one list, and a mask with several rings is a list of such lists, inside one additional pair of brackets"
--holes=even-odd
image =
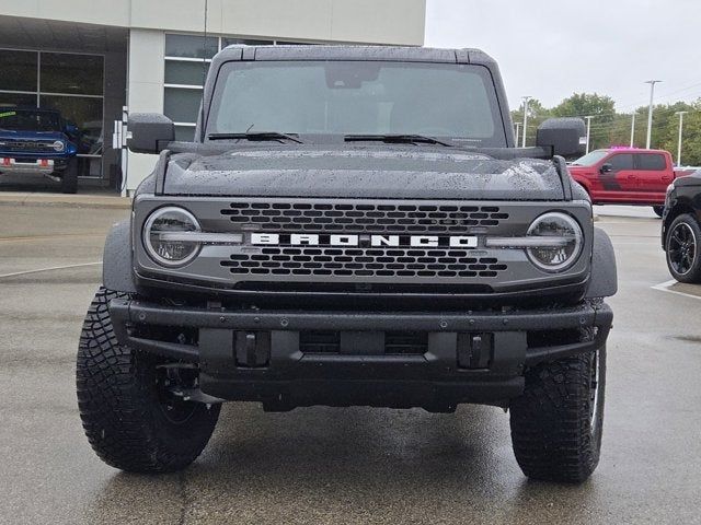
[(526, 372), (510, 407), (512, 442), (526, 476), (579, 483), (599, 463), (606, 347)]

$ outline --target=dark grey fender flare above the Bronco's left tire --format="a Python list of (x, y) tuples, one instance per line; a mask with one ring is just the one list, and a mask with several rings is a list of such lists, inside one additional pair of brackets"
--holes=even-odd
[(105, 240), (102, 282), (107, 290), (136, 293), (131, 271), (131, 220), (116, 223)]

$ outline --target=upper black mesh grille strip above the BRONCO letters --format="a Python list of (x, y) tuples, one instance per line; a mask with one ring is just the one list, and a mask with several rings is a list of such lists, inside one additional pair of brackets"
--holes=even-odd
[(237, 228), (271, 232), (455, 233), (497, 226), (508, 213), (496, 206), (347, 202), (231, 202), (221, 210)]

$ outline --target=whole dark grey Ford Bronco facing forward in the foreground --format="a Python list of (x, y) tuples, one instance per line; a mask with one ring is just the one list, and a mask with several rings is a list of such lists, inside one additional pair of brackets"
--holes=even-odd
[(235, 46), (193, 142), (159, 115), (129, 130), (160, 158), (107, 237), (78, 352), (103, 460), (181, 469), (228, 400), (468, 402), (510, 411), (527, 476), (591, 474), (617, 278), (563, 159), (582, 120), (516, 148), (474, 49)]

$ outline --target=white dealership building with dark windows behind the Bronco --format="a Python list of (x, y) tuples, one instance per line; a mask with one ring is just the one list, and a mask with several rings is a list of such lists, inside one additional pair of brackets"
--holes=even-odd
[[(424, 43), (425, 0), (0, 0), (0, 107), (53, 108), (81, 135), (80, 186), (129, 191), (152, 155), (113, 149), (123, 112), (192, 139), (204, 71), (232, 44)], [(205, 20), (207, 34), (205, 37)]]

